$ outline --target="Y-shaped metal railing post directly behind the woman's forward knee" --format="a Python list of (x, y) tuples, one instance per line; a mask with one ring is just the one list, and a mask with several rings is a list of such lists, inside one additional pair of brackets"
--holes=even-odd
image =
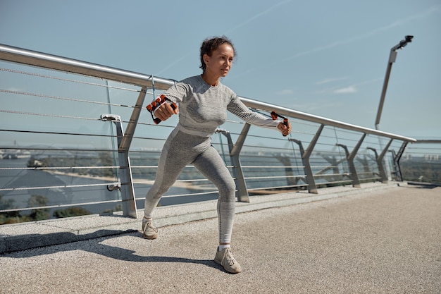
[(233, 145), (231, 135), (226, 130), (218, 130), (218, 132), (223, 133), (228, 140), (228, 149), (230, 151), (230, 161), (232, 165), (232, 176), (235, 178), (236, 183), (236, 196), (239, 202), (249, 202), (249, 195), (247, 190), (247, 183), (245, 182), (244, 173), (242, 172), (242, 166), (240, 164), (240, 151), (245, 142), (249, 131), (249, 123), (245, 123), (242, 132), (237, 138), (236, 144)]

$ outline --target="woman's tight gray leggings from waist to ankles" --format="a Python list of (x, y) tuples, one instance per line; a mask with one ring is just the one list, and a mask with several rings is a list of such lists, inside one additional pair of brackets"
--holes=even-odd
[(151, 218), (164, 193), (175, 183), (181, 171), (193, 164), (219, 190), (217, 204), (219, 243), (230, 243), (235, 216), (235, 181), (223, 159), (211, 146), (211, 138), (173, 130), (159, 158), (156, 179), (145, 198), (144, 216)]

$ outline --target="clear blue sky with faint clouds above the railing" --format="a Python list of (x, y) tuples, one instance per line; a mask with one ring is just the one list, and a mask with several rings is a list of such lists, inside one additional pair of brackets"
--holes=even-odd
[(0, 0), (0, 43), (182, 80), (199, 47), (235, 44), (223, 83), (268, 104), (375, 128), (390, 49), (404, 36), (380, 130), (441, 139), (439, 0)]

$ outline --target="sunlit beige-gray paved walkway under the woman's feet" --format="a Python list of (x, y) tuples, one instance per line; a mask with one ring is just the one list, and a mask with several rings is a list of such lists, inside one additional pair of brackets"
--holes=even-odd
[[(319, 192), (313, 200), (322, 201), (295, 193), (273, 196), (285, 199), (280, 207), (263, 209), (269, 204), (260, 198), (238, 205), (233, 251), (240, 274), (213, 262), (217, 219), (208, 211), (173, 219), (187, 205), (158, 209), (159, 223), (178, 224), (161, 225), (156, 240), (130, 229), (97, 230), (92, 223), (102, 216), (88, 219), (89, 233), (63, 232), (52, 222), (60, 231), (48, 235), (106, 236), (0, 255), (0, 293), (441, 293), (440, 187)], [(26, 226), (37, 224), (0, 227), (4, 250)], [(23, 239), (31, 242), (29, 236)]]

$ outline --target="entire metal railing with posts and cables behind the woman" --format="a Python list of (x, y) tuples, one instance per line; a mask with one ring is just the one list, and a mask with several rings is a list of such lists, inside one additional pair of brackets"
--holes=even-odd
[[(154, 125), (145, 99), (150, 102), (175, 80), (6, 45), (0, 45), (0, 61), (0, 214), (69, 215), (73, 207), (88, 207), (136, 217), (163, 142), (177, 122), (172, 117)], [(249, 195), (284, 190), (317, 193), (328, 185), (387, 182), (401, 177), (399, 159), (417, 142), (240, 99), (254, 111), (276, 111), (293, 124), (290, 137), (282, 137), (229, 116), (213, 136), (243, 202)], [(216, 197), (216, 188), (187, 166), (160, 204)]]

